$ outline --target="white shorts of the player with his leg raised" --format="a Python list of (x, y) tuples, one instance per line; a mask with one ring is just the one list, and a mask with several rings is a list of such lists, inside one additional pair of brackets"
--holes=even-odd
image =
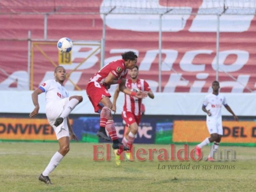
[(63, 98), (59, 101), (55, 101), (54, 103), (48, 103), (46, 106), (46, 116), (50, 125), (55, 131), (57, 140), (59, 140), (61, 137), (69, 137), (67, 118), (65, 118), (58, 127), (55, 127), (53, 125), (55, 123), (55, 120), (60, 117), (65, 105), (67, 105), (68, 102), (69, 97)]

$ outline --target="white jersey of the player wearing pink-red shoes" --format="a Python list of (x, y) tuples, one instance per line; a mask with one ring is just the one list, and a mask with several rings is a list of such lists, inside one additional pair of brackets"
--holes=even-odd
[(216, 96), (211, 93), (205, 97), (203, 105), (206, 107), (207, 110), (210, 109), (211, 116), (207, 115), (207, 120), (208, 119), (222, 120), (221, 107), (222, 105), (226, 106), (227, 101), (224, 95), (219, 93), (218, 96)]

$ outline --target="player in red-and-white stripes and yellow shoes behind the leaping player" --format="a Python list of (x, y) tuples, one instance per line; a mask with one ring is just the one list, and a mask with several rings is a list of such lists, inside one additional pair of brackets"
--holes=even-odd
[[(129, 88), (133, 92), (138, 91), (146, 91), (147, 95), (150, 98), (154, 98), (154, 94), (151, 91), (148, 83), (144, 79), (138, 79), (139, 69), (136, 65), (133, 69), (130, 70), (130, 79), (127, 79), (125, 82), (125, 86)], [(113, 107), (112, 111), (116, 112), (116, 101), (119, 96), (120, 89), (117, 87), (114, 97), (113, 97)], [(123, 134), (122, 144), (124, 146), (128, 146), (129, 148), (134, 144), (135, 136), (138, 132), (138, 125), (141, 120), (141, 116), (145, 111), (145, 107), (143, 109), (142, 98), (136, 98), (130, 95), (124, 95), (124, 105), (122, 111), (122, 119), (125, 121), (128, 129)], [(122, 149), (115, 151), (116, 154), (116, 163), (120, 165), (120, 154), (122, 153)], [(125, 153), (128, 160), (130, 160), (129, 153)]]

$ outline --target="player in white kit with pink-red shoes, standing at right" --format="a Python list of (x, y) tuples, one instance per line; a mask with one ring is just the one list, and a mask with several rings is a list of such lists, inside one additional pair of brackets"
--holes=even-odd
[(195, 153), (197, 156), (201, 156), (201, 148), (209, 143), (214, 142), (210, 150), (210, 154), (207, 157), (208, 161), (214, 161), (213, 153), (219, 147), (219, 142), (221, 136), (223, 135), (222, 128), (222, 117), (221, 117), (221, 107), (224, 107), (233, 115), (234, 120), (238, 120), (238, 117), (234, 114), (232, 109), (228, 106), (226, 98), (224, 95), (219, 93), (219, 82), (212, 82), (213, 92), (207, 95), (204, 99), (202, 110), (207, 113), (207, 129), (210, 133), (210, 137), (207, 137), (202, 143), (196, 145)]

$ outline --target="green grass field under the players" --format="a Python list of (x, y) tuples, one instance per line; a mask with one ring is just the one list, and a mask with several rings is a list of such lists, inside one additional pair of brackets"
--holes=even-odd
[[(235, 150), (236, 161), (158, 161), (154, 158), (154, 161), (123, 161), (121, 166), (116, 166), (112, 150), (111, 161), (93, 161), (92, 145), (71, 143), (68, 155), (50, 174), (54, 184), (46, 185), (38, 176), (58, 150), (58, 143), (0, 143), (0, 192), (256, 191), (254, 147), (229, 146)], [(183, 145), (176, 145), (175, 150), (181, 147)], [(136, 148), (169, 149), (170, 146), (137, 144)], [(205, 147), (203, 152), (207, 154), (207, 151)], [(188, 169), (168, 168), (181, 164)], [(193, 169), (196, 165), (197, 169)], [(216, 165), (218, 169), (214, 169)], [(220, 169), (224, 166), (226, 169)]]

